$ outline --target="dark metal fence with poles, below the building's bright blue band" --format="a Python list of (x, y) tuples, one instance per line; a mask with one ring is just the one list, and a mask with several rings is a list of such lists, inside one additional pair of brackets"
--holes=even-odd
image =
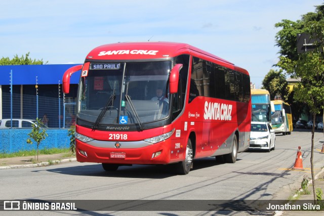
[(43, 119), (46, 114), (48, 127), (68, 128), (75, 125), (75, 104), (73, 98), (3, 93), (2, 118)]

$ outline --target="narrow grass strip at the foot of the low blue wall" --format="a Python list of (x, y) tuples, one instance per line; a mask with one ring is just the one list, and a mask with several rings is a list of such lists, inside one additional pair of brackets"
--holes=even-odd
[[(59, 149), (59, 148), (53, 148), (53, 149), (42, 149), (38, 151), (38, 154), (60, 154), (60, 153), (66, 153), (66, 156), (72, 155), (72, 153), (69, 151), (69, 148)], [(0, 158), (8, 158), (8, 157), (22, 157), (22, 156), (34, 156), (37, 155), (36, 150), (30, 150), (30, 151), (18, 151), (14, 153), (0, 153)]]

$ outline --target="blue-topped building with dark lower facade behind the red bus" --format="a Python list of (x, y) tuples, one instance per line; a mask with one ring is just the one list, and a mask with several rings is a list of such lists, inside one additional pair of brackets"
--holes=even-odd
[[(49, 127), (62, 127), (59, 119), (66, 111), (62, 77), (68, 68), (75, 65), (78, 64), (0, 66), (0, 119), (11, 116), (35, 119), (47, 114)], [(71, 76), (70, 92), (64, 96), (65, 105), (73, 103), (76, 98), (79, 76), (79, 72)], [(72, 113), (73, 110), (68, 112), (70, 116)]]

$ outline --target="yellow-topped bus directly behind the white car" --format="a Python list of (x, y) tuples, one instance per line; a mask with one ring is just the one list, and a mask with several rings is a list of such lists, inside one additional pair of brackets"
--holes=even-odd
[(270, 93), (265, 89), (252, 89), (252, 121), (263, 121), (271, 124)]

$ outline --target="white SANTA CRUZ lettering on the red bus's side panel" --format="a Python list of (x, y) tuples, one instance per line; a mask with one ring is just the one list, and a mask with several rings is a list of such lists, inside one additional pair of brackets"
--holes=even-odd
[(208, 103), (206, 101), (204, 118), (230, 121), (232, 120), (232, 105), (212, 102)]

